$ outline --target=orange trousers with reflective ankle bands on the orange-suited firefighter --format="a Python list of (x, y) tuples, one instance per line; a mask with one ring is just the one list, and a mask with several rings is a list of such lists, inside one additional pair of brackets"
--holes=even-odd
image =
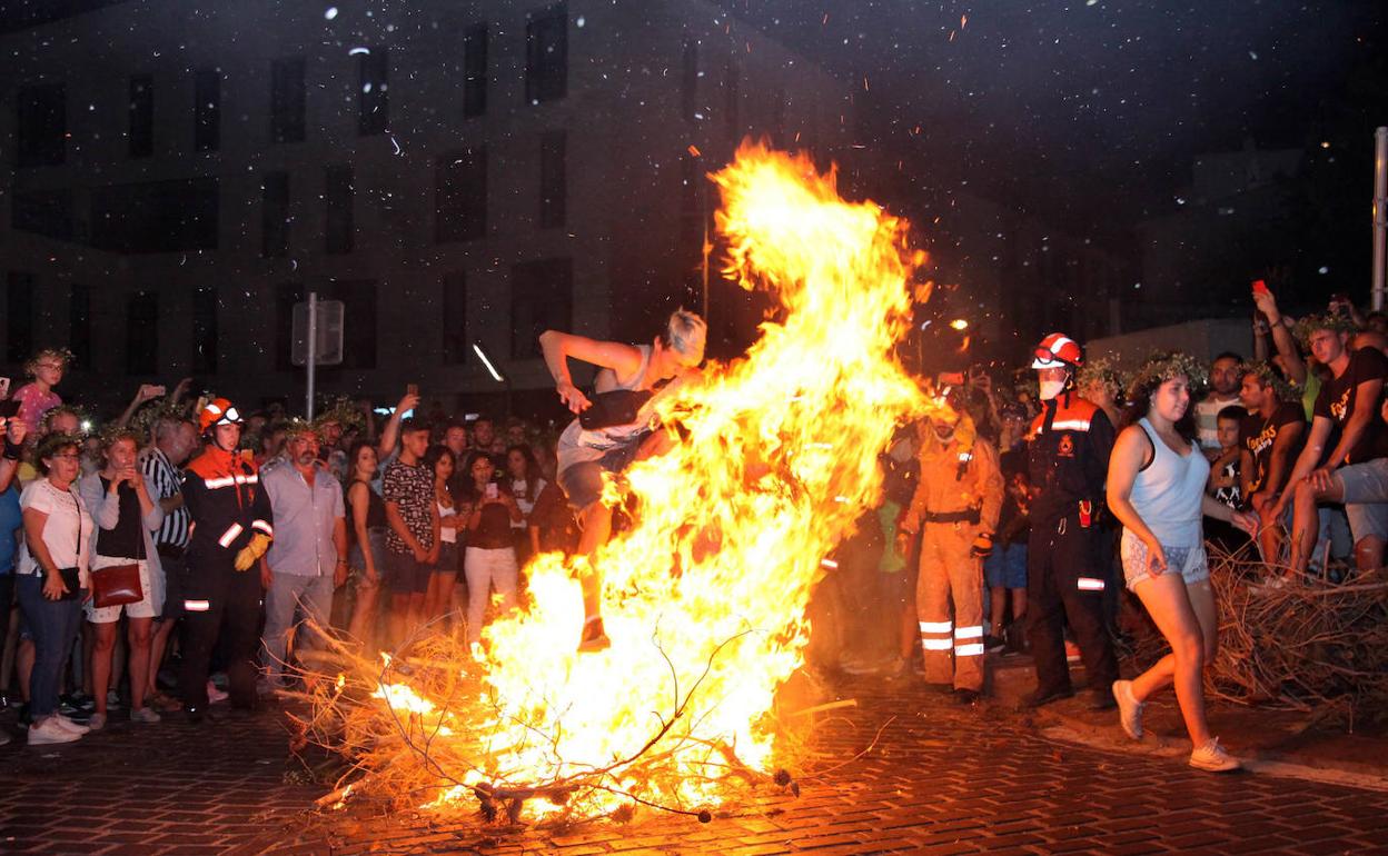
[(924, 524), (916, 617), (926, 681), (981, 692), (983, 562), (970, 555), (973, 530), (962, 523)]

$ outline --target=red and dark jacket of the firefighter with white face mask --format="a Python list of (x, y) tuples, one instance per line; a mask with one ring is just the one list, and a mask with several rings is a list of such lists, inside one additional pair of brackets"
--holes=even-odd
[[(1045, 526), (1076, 513), (1092, 519), (1103, 501), (1113, 425), (1097, 404), (1073, 390), (1041, 405), (1027, 434), (1035, 494), (1031, 524)], [(1081, 511), (1081, 502), (1088, 511)], [(1084, 526), (1088, 524), (1085, 520)]]

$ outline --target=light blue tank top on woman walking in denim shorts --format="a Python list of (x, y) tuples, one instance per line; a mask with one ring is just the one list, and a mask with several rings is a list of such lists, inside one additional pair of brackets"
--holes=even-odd
[(1146, 418), (1138, 419), (1138, 425), (1146, 431), (1153, 452), (1152, 463), (1133, 481), (1133, 508), (1162, 544), (1195, 547), (1203, 541), (1201, 502), (1210, 463), (1195, 444), (1190, 455), (1173, 452)]

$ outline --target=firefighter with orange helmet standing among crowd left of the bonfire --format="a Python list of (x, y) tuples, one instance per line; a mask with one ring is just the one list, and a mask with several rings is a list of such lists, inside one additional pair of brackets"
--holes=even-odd
[(269, 548), (269, 497), (255, 465), (237, 451), (242, 418), (225, 398), (198, 413), (203, 454), (183, 473), (183, 502), (192, 516), (183, 581), (183, 709), (193, 721), (207, 710), (212, 647), (226, 652), (232, 708), (255, 708), (255, 648), (260, 644), (261, 580), (253, 569)]

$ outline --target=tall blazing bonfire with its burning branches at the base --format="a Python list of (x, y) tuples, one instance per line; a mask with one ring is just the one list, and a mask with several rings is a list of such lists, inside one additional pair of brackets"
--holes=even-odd
[(633, 515), (595, 556), (612, 648), (575, 652), (584, 559), (540, 556), (532, 606), (487, 628), (479, 660), (434, 637), (323, 681), (315, 730), (337, 723), (355, 751), (355, 795), (698, 812), (772, 770), (773, 695), (802, 662), (820, 560), (876, 499), (895, 426), (933, 406), (894, 358), (923, 257), (808, 158), (744, 144), (712, 179), (727, 273), (781, 309), (745, 358), (659, 398), (683, 441), (607, 486)]

